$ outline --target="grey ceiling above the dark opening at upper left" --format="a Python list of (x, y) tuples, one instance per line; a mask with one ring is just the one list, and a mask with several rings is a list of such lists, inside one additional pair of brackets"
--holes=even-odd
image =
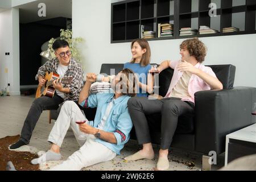
[[(38, 16), (39, 3), (46, 4), (46, 17)], [(72, 18), (72, 0), (41, 0), (16, 7), (19, 8), (20, 23), (30, 23), (57, 17)]]

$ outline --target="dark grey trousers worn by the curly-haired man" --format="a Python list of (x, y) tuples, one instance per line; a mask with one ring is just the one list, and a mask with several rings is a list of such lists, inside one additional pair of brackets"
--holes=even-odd
[(164, 98), (148, 100), (147, 97), (132, 97), (127, 103), (131, 120), (135, 127), (138, 143), (150, 143), (150, 130), (146, 115), (161, 113), (161, 143), (160, 148), (166, 150), (171, 146), (178, 117), (183, 114), (193, 114), (192, 102), (181, 101), (180, 98)]

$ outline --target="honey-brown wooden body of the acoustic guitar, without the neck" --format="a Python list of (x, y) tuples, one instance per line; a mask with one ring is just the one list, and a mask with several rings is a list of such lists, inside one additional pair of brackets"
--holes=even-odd
[(57, 73), (48, 73), (46, 72), (46, 76), (44, 76), (44, 80), (46, 80), (46, 84), (44, 86), (38, 85), (38, 89), (36, 90), (36, 98), (41, 96), (53, 97), (55, 93), (55, 88), (52, 85), (47, 85), (49, 81), (57, 80), (60, 76)]

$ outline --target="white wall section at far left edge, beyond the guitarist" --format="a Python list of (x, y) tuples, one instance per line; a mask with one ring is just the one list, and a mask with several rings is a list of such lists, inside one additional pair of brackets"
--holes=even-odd
[[(0, 13), (0, 89), (7, 89), (10, 94), (19, 91), (19, 10), (10, 9)], [(9, 56), (5, 52), (10, 52)], [(6, 73), (5, 70), (8, 70)]]

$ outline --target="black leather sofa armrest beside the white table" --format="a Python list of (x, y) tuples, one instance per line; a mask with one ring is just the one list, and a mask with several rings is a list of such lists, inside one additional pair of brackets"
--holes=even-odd
[(235, 87), (195, 93), (195, 148), (208, 154), (225, 151), (225, 137), (254, 123), (251, 107), (256, 88)]

